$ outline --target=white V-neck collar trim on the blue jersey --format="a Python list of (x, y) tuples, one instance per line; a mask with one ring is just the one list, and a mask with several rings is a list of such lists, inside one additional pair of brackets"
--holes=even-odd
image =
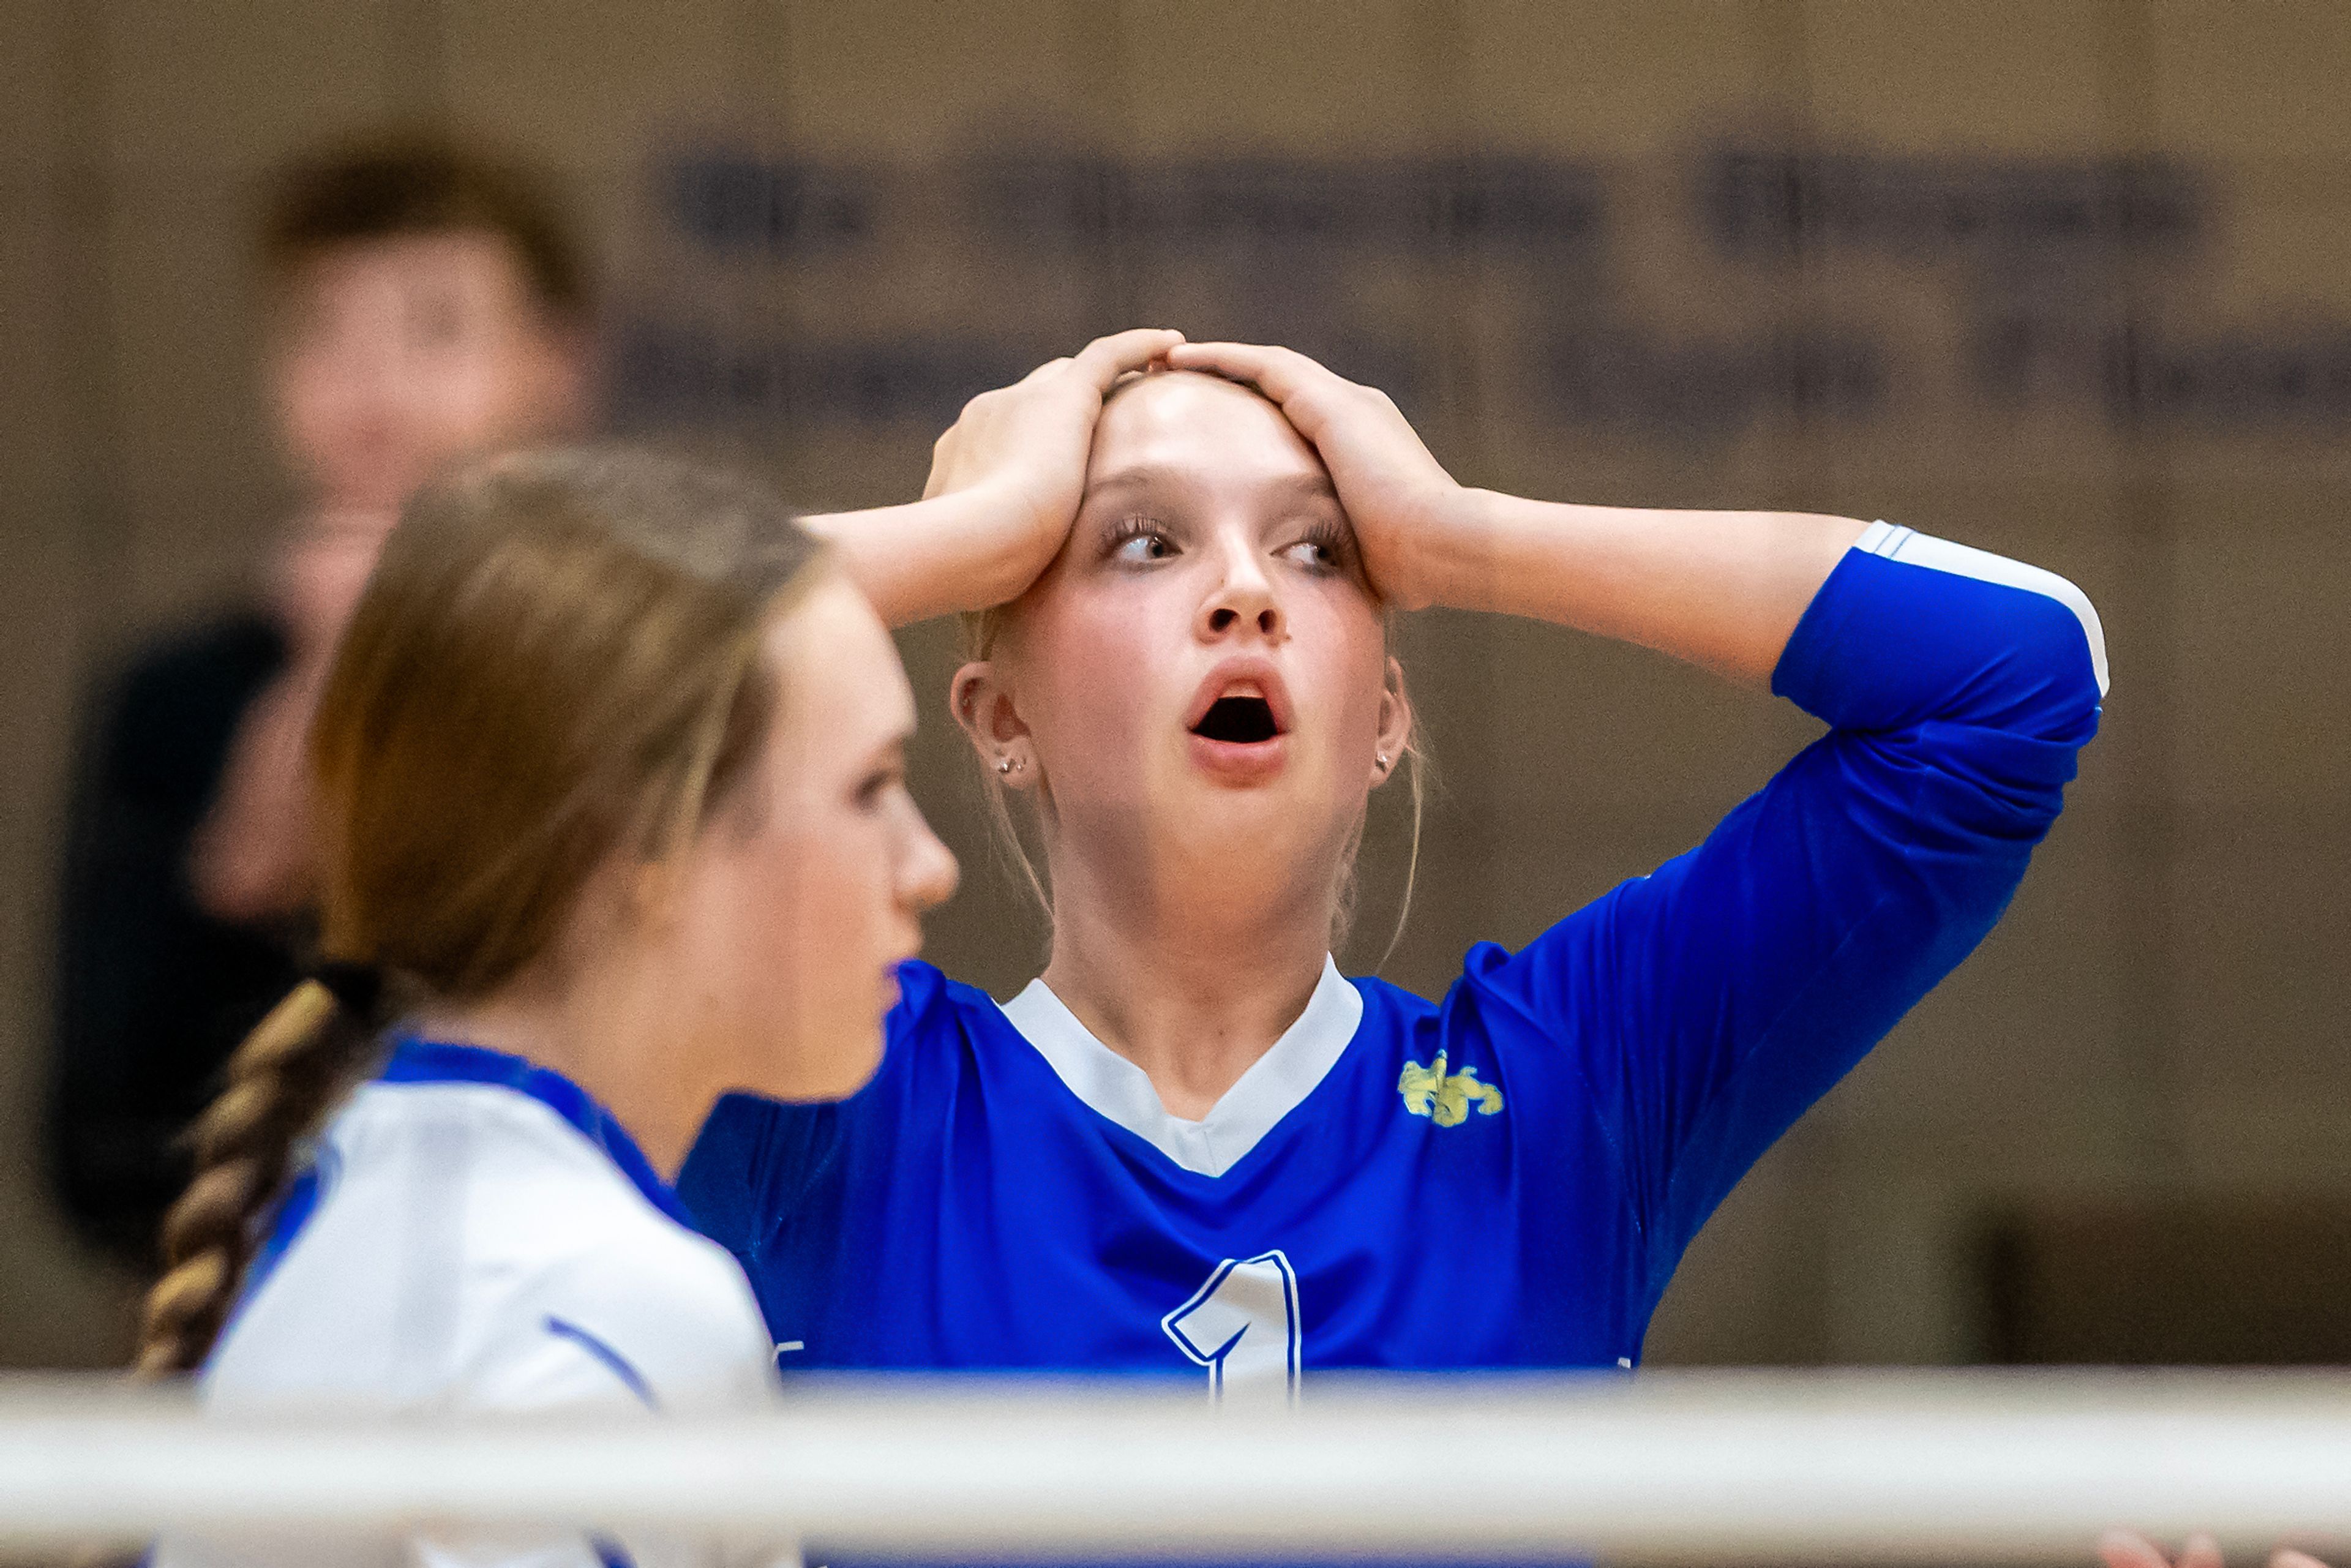
[(1364, 992), (1349, 985), (1326, 954), (1307, 1011), (1281, 1032), (1272, 1051), (1251, 1063), (1201, 1121), (1171, 1117), (1150, 1074), (1098, 1041), (1044, 978), (1030, 980), (1027, 990), (1006, 1001), (1004, 1018), (1091, 1110), (1185, 1171), (1223, 1175), (1338, 1065), (1364, 1020)]

